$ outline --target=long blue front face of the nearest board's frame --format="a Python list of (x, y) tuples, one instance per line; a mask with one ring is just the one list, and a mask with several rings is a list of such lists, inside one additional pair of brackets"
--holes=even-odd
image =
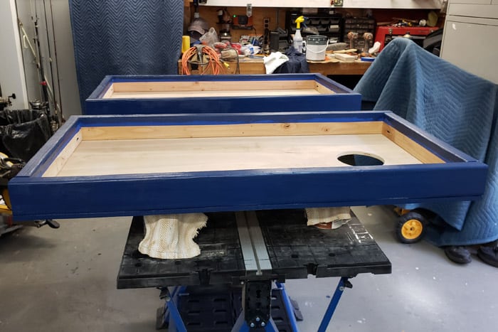
[(16, 220), (467, 200), (480, 163), (14, 178)]

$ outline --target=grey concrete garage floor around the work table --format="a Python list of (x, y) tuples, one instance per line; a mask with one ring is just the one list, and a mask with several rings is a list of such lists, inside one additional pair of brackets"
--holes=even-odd
[[(354, 208), (393, 273), (351, 279), (327, 331), (496, 331), (498, 270), (402, 245), (384, 207)], [(60, 220), (0, 237), (0, 331), (155, 331), (157, 289), (116, 289), (131, 218)], [(300, 331), (316, 331), (338, 279), (289, 280)]]

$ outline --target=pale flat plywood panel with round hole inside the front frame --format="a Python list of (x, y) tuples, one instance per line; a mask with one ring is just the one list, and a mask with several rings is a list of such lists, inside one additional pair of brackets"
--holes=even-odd
[(349, 153), (421, 164), (382, 134), (124, 139), (81, 142), (58, 176), (339, 167)]

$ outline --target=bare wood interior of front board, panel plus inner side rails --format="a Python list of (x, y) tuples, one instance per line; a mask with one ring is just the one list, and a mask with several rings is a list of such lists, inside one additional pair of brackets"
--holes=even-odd
[(384, 122), (82, 127), (43, 176), (344, 167), (344, 154), (444, 162)]

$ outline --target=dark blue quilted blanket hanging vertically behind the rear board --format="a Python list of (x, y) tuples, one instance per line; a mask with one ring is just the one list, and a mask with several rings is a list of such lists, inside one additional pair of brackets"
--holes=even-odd
[(70, 0), (80, 102), (105, 75), (176, 74), (182, 0)]

